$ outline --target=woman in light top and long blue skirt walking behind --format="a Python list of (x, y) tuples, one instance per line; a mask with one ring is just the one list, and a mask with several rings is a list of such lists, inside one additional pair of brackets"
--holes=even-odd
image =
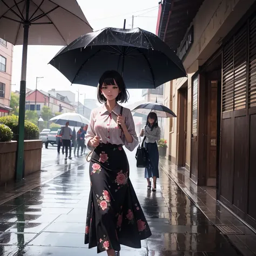
[(159, 152), (157, 142), (160, 139), (160, 127), (158, 126), (157, 114), (154, 112), (149, 113), (147, 122), (140, 132), (140, 136), (145, 136), (145, 147), (149, 152), (150, 167), (145, 168), (145, 178), (147, 179), (147, 189), (151, 189), (150, 178), (153, 177), (152, 191), (157, 189), (157, 178), (159, 178)]

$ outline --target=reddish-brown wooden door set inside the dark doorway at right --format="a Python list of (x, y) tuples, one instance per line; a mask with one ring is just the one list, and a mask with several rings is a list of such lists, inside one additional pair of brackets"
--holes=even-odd
[(208, 82), (208, 114), (207, 114), (207, 167), (206, 185), (216, 185), (217, 174), (217, 100), (218, 81)]

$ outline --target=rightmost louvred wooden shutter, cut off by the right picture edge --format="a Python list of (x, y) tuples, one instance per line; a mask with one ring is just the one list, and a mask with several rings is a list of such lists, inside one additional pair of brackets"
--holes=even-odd
[(256, 17), (250, 21), (249, 107), (256, 106)]

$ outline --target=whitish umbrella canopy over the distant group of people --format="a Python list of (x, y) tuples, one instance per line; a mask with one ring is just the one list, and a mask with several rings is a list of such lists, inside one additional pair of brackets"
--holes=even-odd
[(59, 125), (65, 125), (69, 122), (70, 126), (81, 126), (89, 124), (89, 120), (78, 113), (63, 113), (50, 119), (51, 122)]

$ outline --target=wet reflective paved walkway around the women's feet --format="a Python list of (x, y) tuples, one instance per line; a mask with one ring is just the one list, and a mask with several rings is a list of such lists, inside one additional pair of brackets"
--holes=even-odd
[[(160, 170), (157, 192), (148, 191), (134, 152), (127, 155), (130, 178), (152, 236), (142, 241), (139, 250), (121, 246), (120, 255), (241, 255), (166, 172)], [(17, 184), (2, 188), (12, 197), (0, 205), (0, 255), (97, 255), (96, 248), (89, 250), (84, 245), (88, 166), (85, 157), (65, 162), (62, 154), (57, 157), (56, 149), (43, 149), (43, 172), (37, 174), (38, 180), (34, 176), (19, 183), (16, 190), (23, 194), (17, 197)]]

